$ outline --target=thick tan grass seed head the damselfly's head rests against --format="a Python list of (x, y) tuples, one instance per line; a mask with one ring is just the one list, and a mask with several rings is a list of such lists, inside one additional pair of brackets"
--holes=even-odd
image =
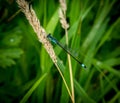
[(57, 63), (57, 59), (53, 47), (46, 37), (47, 35), (45, 30), (40, 26), (40, 22), (32, 6), (29, 7), (28, 2), (26, 2), (25, 0), (17, 0), (17, 3), (21, 8), (22, 12), (25, 14), (26, 18), (28, 19), (30, 25), (33, 27), (34, 31), (36, 32), (39, 41), (44, 45), (45, 49), (47, 50), (53, 62)]

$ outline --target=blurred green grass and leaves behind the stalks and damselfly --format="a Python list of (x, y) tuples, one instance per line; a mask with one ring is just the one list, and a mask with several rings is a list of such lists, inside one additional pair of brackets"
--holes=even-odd
[[(41, 25), (62, 44), (58, 0), (33, 0)], [(67, 0), (76, 103), (120, 103), (120, 1)], [(56, 45), (70, 86), (66, 53)], [(70, 88), (70, 87), (69, 87)], [(71, 103), (59, 72), (15, 0), (0, 0), (0, 103)]]

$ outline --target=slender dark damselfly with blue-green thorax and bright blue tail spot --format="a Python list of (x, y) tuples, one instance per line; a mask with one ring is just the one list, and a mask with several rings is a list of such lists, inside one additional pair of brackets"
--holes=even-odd
[(67, 48), (65, 48), (60, 42), (58, 42), (57, 39), (52, 37), (50, 34), (47, 35), (47, 38), (53, 43), (59, 45), (64, 51), (66, 51), (70, 56), (72, 56), (81, 65), (81, 67), (86, 68), (85, 64), (81, 63), (75, 56), (73, 56), (73, 54)]

